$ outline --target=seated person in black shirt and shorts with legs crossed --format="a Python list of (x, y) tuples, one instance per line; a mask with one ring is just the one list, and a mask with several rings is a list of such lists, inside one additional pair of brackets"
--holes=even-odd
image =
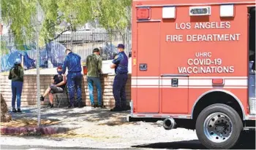
[(61, 93), (64, 92), (64, 89), (66, 87), (66, 76), (62, 76), (62, 66), (59, 66), (57, 68), (58, 74), (53, 76), (53, 79), (51, 80), (51, 85), (48, 87), (47, 90), (45, 90), (45, 94), (41, 96), (40, 100), (44, 101), (45, 96), (49, 94), (49, 104), (50, 108), (53, 108), (53, 94), (55, 93)]

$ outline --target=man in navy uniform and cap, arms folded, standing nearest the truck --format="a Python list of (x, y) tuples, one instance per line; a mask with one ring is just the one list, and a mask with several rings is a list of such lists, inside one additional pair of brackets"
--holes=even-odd
[(118, 44), (118, 55), (113, 59), (110, 68), (115, 68), (115, 79), (113, 82), (113, 95), (116, 101), (116, 106), (110, 111), (126, 111), (127, 96), (125, 87), (128, 77), (128, 58), (124, 53), (124, 44)]

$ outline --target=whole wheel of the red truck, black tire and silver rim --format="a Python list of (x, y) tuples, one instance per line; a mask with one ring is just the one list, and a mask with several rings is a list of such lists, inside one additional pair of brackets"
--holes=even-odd
[(197, 138), (208, 149), (230, 149), (243, 129), (238, 113), (225, 104), (214, 104), (201, 111), (195, 125)]

